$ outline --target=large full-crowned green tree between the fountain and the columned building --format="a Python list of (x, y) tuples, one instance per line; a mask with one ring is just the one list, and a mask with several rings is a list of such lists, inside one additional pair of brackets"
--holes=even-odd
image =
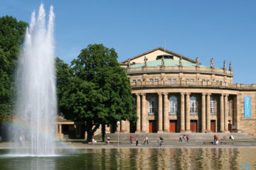
[(71, 71), (60, 107), (65, 108), (66, 118), (85, 121), (87, 141), (100, 125), (137, 120), (129, 78), (125, 69), (119, 67), (113, 48), (88, 45), (73, 60)]

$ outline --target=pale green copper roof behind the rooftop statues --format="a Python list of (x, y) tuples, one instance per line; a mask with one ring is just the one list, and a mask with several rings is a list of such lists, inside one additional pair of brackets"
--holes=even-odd
[[(140, 68), (143, 67), (144, 63), (138, 63), (138, 64), (133, 64), (131, 65), (131, 68)], [(161, 67), (161, 60), (154, 60), (151, 62), (146, 62), (147, 67)], [(179, 66), (179, 61), (178, 60), (172, 60), (172, 59), (165, 59), (164, 60), (164, 66), (165, 67), (178, 67)], [(183, 67), (196, 67), (196, 63), (191, 63), (191, 62), (182, 62)], [(207, 67), (204, 65), (200, 65), (200, 67)], [(207, 67), (209, 68), (209, 67)]]

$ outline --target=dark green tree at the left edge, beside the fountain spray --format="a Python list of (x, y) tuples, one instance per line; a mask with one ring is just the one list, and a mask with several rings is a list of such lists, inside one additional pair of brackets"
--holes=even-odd
[(15, 68), (27, 26), (12, 16), (0, 18), (0, 122), (11, 118)]

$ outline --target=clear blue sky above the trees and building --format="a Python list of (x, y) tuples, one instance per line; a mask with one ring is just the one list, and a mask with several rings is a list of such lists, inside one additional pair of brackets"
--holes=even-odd
[[(0, 16), (30, 21), (41, 1), (0, 0)], [(67, 63), (92, 43), (114, 47), (119, 62), (156, 47), (199, 57), (215, 67), (232, 61), (234, 83), (256, 83), (256, 1), (45, 0), (55, 11), (55, 55)]]

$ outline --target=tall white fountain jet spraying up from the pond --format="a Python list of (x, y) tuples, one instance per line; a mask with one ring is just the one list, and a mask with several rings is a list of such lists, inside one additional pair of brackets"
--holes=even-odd
[(55, 154), (57, 99), (55, 92), (53, 6), (46, 12), (41, 4), (38, 17), (33, 11), (26, 30), (16, 76), (17, 106), (14, 117), (16, 154), (48, 156)]

